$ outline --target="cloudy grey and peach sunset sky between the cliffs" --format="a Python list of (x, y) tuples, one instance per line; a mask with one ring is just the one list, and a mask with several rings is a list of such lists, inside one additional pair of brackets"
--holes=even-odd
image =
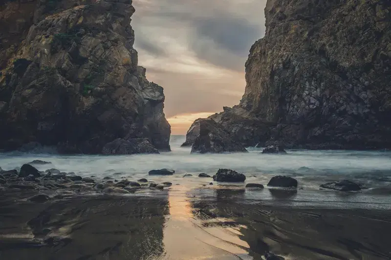
[(266, 0), (133, 0), (139, 65), (164, 88), (173, 135), (239, 104), (244, 63), (264, 36)]

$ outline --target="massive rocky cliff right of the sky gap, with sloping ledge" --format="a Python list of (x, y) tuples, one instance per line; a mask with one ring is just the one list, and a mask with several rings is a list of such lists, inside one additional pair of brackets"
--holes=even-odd
[(265, 16), (240, 104), (211, 118), (246, 145), (391, 148), (391, 1), (268, 0)]

